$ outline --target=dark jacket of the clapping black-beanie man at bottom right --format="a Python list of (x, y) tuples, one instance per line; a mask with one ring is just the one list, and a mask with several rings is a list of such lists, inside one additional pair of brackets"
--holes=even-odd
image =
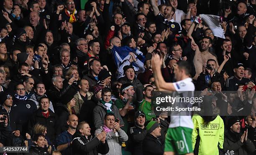
[(250, 155), (255, 150), (255, 146), (250, 139), (240, 141), (241, 134), (232, 133), (229, 129), (224, 136), (224, 151), (233, 150), (235, 155)]

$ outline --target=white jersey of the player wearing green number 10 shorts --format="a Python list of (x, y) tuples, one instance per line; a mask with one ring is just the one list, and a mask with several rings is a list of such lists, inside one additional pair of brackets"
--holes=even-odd
[[(174, 88), (177, 92), (173, 93), (173, 97), (194, 97), (195, 85), (192, 82), (192, 78), (186, 78), (178, 82), (174, 82)], [(172, 107), (192, 107), (192, 104), (185, 102), (175, 102)], [(190, 112), (178, 112), (171, 115), (171, 122), (169, 128), (186, 127), (194, 129), (194, 125), (191, 119)]]

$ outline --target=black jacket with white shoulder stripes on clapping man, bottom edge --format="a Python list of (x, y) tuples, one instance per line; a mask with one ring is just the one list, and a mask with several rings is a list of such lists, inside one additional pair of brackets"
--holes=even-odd
[(108, 143), (101, 143), (100, 140), (91, 136), (89, 140), (80, 133), (75, 133), (72, 140), (73, 155), (97, 155), (98, 153), (104, 155), (109, 151)]

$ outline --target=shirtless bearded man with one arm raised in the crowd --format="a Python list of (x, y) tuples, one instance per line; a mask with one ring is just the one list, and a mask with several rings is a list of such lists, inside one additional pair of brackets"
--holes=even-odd
[[(187, 36), (190, 37), (192, 39), (192, 42), (194, 42), (193, 37), (191, 36), (193, 30), (195, 28), (195, 23), (192, 23), (192, 25), (190, 26), (188, 32), (187, 32)], [(219, 67), (218, 64), (218, 60), (217, 57), (215, 55), (212, 55), (209, 52), (209, 47), (212, 46), (212, 39), (210, 37), (203, 37), (201, 45), (200, 45), (200, 49), (198, 46), (196, 46), (196, 50), (195, 50), (195, 56), (194, 56), (194, 65), (195, 65), (195, 70), (196, 70), (196, 75), (195, 77), (193, 77), (193, 79), (197, 80), (198, 75), (202, 72), (202, 65), (206, 64), (208, 59), (213, 59), (216, 61), (217, 64), (217, 68)]]

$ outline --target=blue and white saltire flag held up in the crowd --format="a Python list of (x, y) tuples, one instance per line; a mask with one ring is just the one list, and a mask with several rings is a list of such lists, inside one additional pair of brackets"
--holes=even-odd
[[(142, 63), (144, 63), (145, 61), (145, 56), (143, 56), (143, 53), (141, 51), (139, 51), (138, 49), (133, 49), (131, 47), (128, 46), (122, 46), (122, 47), (117, 47), (114, 46), (112, 48), (112, 53), (114, 56), (114, 60), (115, 60), (115, 65), (117, 67), (120, 66), (120, 64), (124, 61), (124, 60), (129, 60), (131, 55), (129, 55), (129, 52), (133, 52), (135, 54), (135, 57), (140, 60)], [(137, 71), (138, 66), (132, 62), (132, 65), (134, 67), (134, 69)]]

